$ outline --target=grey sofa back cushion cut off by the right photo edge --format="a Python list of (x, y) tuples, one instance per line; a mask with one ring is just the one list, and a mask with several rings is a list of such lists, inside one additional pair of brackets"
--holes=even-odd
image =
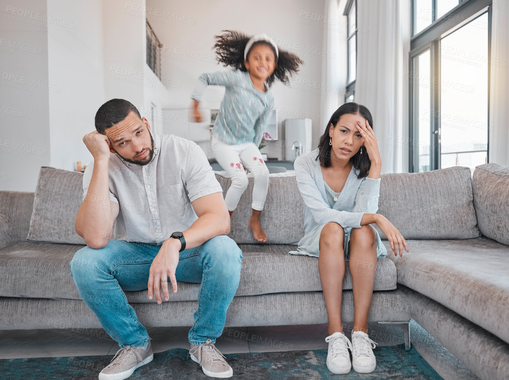
[(476, 166), (472, 188), (480, 231), (509, 245), (509, 166), (495, 163)]

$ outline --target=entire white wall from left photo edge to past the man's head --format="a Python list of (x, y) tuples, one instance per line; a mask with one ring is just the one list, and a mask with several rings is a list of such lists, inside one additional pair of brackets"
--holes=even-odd
[[(92, 161), (82, 137), (101, 104), (160, 110), (175, 82), (163, 85), (146, 64), (145, 18), (128, 2), (18, 4), (0, 2), (0, 190), (34, 191), (41, 166)], [(19, 88), (26, 78), (36, 84)]]

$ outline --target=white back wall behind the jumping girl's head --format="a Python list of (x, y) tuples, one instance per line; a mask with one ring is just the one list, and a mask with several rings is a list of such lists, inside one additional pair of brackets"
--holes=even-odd
[[(306, 24), (306, 13), (323, 15), (324, 1), (261, 0), (245, 3), (234, 0), (180, 2), (147, 0), (147, 19), (161, 43), (163, 83), (167, 81), (168, 100), (164, 108), (190, 107), (192, 89), (204, 72), (227, 70), (215, 62), (212, 49), (214, 35), (223, 29), (239, 30), (248, 35), (267, 33), (280, 48), (298, 53), (304, 65), (290, 86), (276, 82), (272, 86), (279, 118), (279, 138), (283, 139), (282, 120), (314, 119), (313, 146), (325, 128), (320, 121), (321, 95), (314, 88), (321, 80), (322, 57), (309, 53), (322, 48), (322, 27)], [(301, 16), (304, 14), (304, 16)], [(314, 94), (313, 92), (318, 92)], [(202, 99), (204, 108), (218, 109), (224, 87), (210, 86)], [(327, 121), (325, 121), (327, 123)], [(262, 152), (269, 157), (284, 158), (281, 142), (271, 142)], [(206, 147), (204, 150), (207, 152)]]

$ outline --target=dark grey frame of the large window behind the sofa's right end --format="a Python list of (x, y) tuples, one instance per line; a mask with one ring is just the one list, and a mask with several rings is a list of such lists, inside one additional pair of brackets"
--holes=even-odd
[[(436, 170), (441, 167), (441, 129), (440, 129), (440, 41), (447, 35), (456, 32), (462, 26), (475, 20), (477, 17), (488, 13), (488, 60), (491, 59), (491, 0), (460, 0), (459, 4), (445, 13), (439, 19), (436, 17), (436, 4), (438, 0), (432, 0), (432, 23), (422, 31), (410, 38), (409, 52), (409, 73), (415, 73), (414, 59), (422, 52), (430, 49), (430, 170)], [(415, 2), (411, 2), (411, 31), (414, 30), (415, 22)], [(447, 21), (448, 23), (446, 23)], [(490, 125), (489, 103), (490, 103), (490, 65), (488, 65), (488, 126)], [(434, 85), (433, 83), (437, 83)], [(419, 117), (416, 111), (418, 104), (418, 95), (414, 93), (414, 83), (411, 77), (408, 80), (409, 91), (409, 172), (419, 172), (419, 149), (418, 149), (418, 122)], [(490, 128), (488, 127), (488, 143), (486, 154), (490, 157)], [(417, 140), (415, 140), (417, 138)]]

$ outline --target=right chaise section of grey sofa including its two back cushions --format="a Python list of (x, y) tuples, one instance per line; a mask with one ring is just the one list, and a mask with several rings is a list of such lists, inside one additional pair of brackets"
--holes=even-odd
[(479, 165), (472, 181), (462, 167), (383, 174), (380, 194), (378, 212), (411, 239), (388, 257), (412, 318), (479, 378), (509, 379), (509, 166)]

